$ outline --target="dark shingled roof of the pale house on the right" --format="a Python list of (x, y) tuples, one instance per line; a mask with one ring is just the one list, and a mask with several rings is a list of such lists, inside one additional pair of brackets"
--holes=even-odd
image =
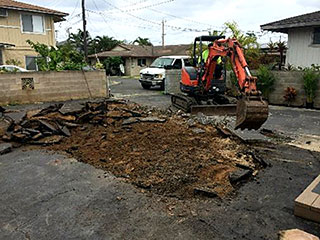
[(290, 28), (320, 26), (320, 11), (261, 25), (262, 30), (288, 33)]

